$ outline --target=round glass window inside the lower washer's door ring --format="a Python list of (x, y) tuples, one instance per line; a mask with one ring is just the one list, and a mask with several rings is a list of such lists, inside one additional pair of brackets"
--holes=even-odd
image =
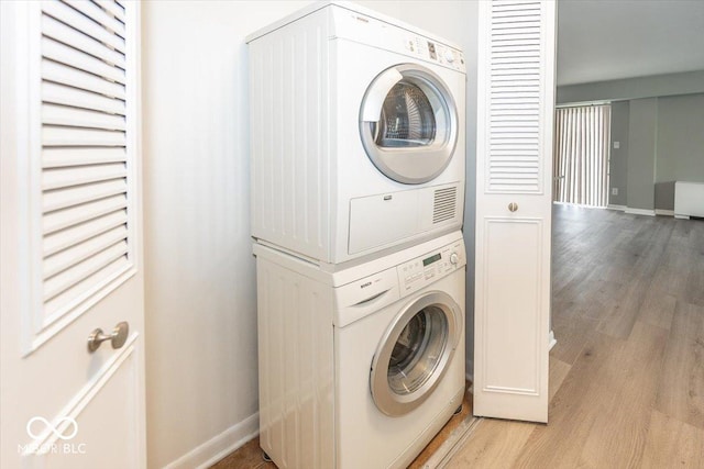
[(448, 344), (448, 319), (436, 306), (424, 308), (402, 331), (388, 362), (388, 386), (396, 394), (410, 394), (435, 373)]

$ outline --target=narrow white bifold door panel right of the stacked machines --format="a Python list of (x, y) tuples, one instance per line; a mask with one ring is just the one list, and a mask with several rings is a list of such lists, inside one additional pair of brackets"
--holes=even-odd
[(474, 414), (548, 421), (556, 2), (480, 2)]

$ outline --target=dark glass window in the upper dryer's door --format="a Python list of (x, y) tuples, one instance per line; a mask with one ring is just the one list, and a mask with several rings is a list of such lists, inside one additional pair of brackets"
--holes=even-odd
[(378, 123), (373, 123), (376, 145), (386, 148), (430, 145), (436, 137), (436, 118), (426, 93), (402, 80), (386, 96)]

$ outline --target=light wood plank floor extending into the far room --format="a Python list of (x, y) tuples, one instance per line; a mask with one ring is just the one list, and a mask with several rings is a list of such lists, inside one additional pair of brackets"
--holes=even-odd
[(704, 221), (554, 206), (549, 424), (450, 468), (704, 468)]

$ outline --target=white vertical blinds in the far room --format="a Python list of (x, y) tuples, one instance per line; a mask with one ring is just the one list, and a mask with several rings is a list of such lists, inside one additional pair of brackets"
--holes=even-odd
[(610, 105), (562, 108), (556, 112), (553, 200), (608, 204)]

